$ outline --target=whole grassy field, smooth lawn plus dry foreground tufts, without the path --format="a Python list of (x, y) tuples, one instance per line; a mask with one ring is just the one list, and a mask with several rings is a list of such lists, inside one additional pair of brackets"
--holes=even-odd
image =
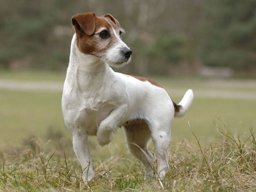
[[(1, 79), (63, 82), (64, 73), (0, 72)], [(87, 184), (64, 125), (61, 92), (0, 89), (0, 190), (4, 191), (253, 191), (256, 99), (204, 98), (204, 90), (255, 93), (244, 80), (152, 77), (172, 90), (192, 88), (194, 102), (172, 126), (170, 173), (143, 180), (143, 168), (128, 150), (122, 130), (105, 147), (90, 138), (96, 178)], [(248, 82), (248, 81), (247, 81)], [(170, 91), (169, 91), (170, 90)], [(172, 99), (179, 102), (182, 94)], [(189, 124), (190, 126), (189, 126)], [(220, 132), (223, 130), (223, 132)], [(227, 133), (230, 131), (230, 133)], [(195, 136), (194, 136), (194, 134)], [(199, 144), (200, 145), (199, 145)], [(154, 147), (150, 144), (150, 149)], [(65, 152), (65, 155), (64, 155)]]

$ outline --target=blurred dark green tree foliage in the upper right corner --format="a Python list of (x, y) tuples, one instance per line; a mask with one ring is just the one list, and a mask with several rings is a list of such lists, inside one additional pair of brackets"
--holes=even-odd
[(202, 62), (236, 70), (256, 67), (256, 1), (204, 1)]

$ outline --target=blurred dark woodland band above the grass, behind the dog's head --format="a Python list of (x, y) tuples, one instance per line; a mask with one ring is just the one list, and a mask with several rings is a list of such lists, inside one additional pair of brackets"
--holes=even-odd
[(256, 74), (255, 0), (8, 0), (0, 2), (0, 68), (66, 70), (74, 14), (112, 14), (136, 74)]

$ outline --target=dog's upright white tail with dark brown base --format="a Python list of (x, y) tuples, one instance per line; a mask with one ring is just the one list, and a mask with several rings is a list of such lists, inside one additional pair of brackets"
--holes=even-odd
[(193, 91), (189, 89), (187, 90), (187, 92), (185, 93), (185, 95), (183, 96), (182, 100), (178, 105), (172, 101), (175, 110), (174, 116), (178, 118), (183, 117), (187, 112), (188, 108), (190, 107), (190, 105), (192, 104), (193, 98)]

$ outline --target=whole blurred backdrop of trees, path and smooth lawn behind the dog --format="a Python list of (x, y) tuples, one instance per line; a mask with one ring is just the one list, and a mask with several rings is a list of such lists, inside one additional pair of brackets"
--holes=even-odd
[(174, 141), (192, 136), (190, 128), (210, 138), (216, 126), (241, 134), (256, 127), (255, 0), (2, 0), (2, 146), (30, 136), (70, 137), (62, 85), (71, 17), (86, 12), (110, 13), (126, 30), (132, 62), (117, 71), (158, 81), (177, 103), (194, 90), (190, 110), (174, 120)]

